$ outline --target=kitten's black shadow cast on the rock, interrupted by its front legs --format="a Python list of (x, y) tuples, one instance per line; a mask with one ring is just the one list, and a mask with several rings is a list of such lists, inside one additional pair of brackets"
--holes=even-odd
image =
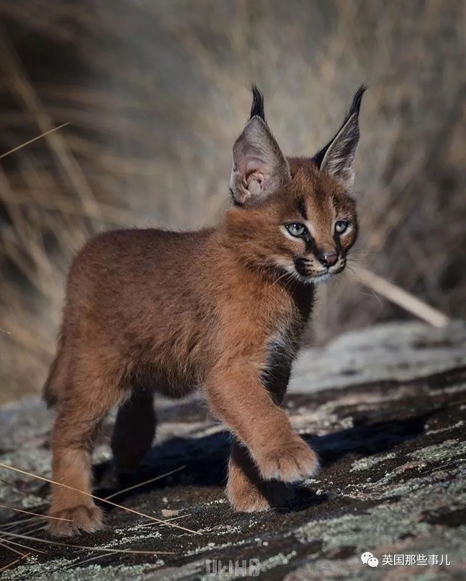
[[(435, 410), (438, 411), (438, 410)], [(325, 436), (304, 434), (304, 439), (319, 453), (321, 465), (328, 467), (339, 462), (349, 454), (372, 456), (391, 450), (398, 444), (411, 440), (424, 433), (425, 423), (435, 413), (417, 415), (404, 419), (366, 423), (359, 418), (352, 428)], [(172, 437), (156, 444), (147, 454), (145, 461), (135, 474), (117, 479), (111, 461), (95, 467), (95, 480), (99, 486), (97, 496), (106, 497), (118, 490), (135, 486), (151, 478), (184, 467), (174, 474), (160, 478), (147, 485), (115, 496), (121, 503), (125, 499), (154, 490), (174, 488), (176, 486), (223, 487), (226, 484), (227, 460), (229, 456), (230, 436), (226, 431), (201, 437)], [(292, 501), (292, 510), (304, 510), (309, 505), (325, 500), (316, 496), (309, 489), (297, 487), (297, 497)]]

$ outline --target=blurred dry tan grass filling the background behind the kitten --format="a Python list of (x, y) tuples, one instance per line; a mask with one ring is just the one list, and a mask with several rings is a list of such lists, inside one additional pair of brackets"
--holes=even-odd
[[(353, 260), (465, 317), (465, 15), (464, 0), (1, 0), (0, 155), (69, 125), (0, 159), (0, 401), (41, 389), (93, 233), (219, 220), (252, 82), (288, 155), (312, 155), (370, 86)], [(319, 293), (315, 342), (408, 316), (349, 269)]]

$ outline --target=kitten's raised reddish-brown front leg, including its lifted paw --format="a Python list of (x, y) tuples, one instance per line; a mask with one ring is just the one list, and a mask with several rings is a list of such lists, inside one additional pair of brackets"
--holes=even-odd
[(213, 413), (247, 446), (263, 480), (298, 482), (315, 474), (317, 454), (292, 431), (252, 365), (217, 368), (206, 388)]

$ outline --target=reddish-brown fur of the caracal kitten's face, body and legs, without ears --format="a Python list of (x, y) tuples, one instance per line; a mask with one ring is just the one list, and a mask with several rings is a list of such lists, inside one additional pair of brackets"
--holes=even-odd
[[(258, 117), (253, 122), (268, 130)], [(355, 203), (338, 175), (312, 159), (288, 159), (273, 192), (260, 163), (240, 177), (243, 201), (252, 196), (254, 203), (232, 205), (218, 228), (107, 232), (75, 258), (45, 386), (57, 410), (58, 482), (91, 491), (93, 444), (111, 407), (121, 406), (115, 465), (130, 471), (153, 440), (153, 392), (183, 397), (199, 387), (234, 435), (227, 496), (236, 510), (279, 505), (290, 497), (284, 483), (316, 471), (315, 452), (292, 431), (280, 403), (312, 310), (312, 282), (341, 270), (355, 242)], [(256, 200), (251, 175), (261, 190)], [(304, 221), (303, 207), (312, 243), (284, 230)], [(326, 269), (317, 254), (335, 250), (341, 219), (352, 228), (339, 241), (338, 263)], [(297, 257), (307, 274), (292, 272)], [(50, 514), (73, 519), (50, 521), (56, 535), (102, 526), (90, 497), (61, 486), (53, 486)]]

